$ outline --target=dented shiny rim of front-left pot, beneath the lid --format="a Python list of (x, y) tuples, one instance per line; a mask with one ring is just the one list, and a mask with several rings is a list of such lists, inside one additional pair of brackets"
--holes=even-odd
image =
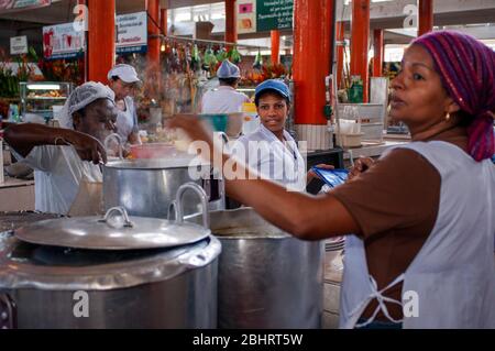
[(36, 245), (0, 233), (0, 290), (109, 290), (173, 279), (217, 260), (220, 242), (105, 251)]

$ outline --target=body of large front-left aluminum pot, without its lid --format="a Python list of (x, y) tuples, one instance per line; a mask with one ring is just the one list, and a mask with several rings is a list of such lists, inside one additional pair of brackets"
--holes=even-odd
[(211, 235), (109, 251), (32, 244), (3, 232), (0, 317), (9, 328), (216, 328), (220, 251)]

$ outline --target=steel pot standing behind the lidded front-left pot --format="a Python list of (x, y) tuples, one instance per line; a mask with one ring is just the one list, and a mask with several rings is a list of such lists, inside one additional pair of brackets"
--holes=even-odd
[[(167, 218), (166, 209), (177, 189), (188, 182), (205, 188), (210, 209), (224, 209), (223, 183), (211, 182), (210, 167), (205, 164), (194, 165), (193, 160), (193, 156), (182, 154), (173, 158), (108, 162), (103, 166), (105, 209), (122, 206), (131, 216)], [(199, 167), (202, 167), (202, 177), (191, 177)], [(185, 213), (197, 212), (196, 201), (186, 195)]]

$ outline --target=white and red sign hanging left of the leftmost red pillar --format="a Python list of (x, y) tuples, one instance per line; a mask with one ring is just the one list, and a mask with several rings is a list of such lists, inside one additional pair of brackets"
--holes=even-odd
[(75, 31), (74, 23), (43, 28), (43, 56), (46, 59), (75, 58), (84, 55), (85, 32)]

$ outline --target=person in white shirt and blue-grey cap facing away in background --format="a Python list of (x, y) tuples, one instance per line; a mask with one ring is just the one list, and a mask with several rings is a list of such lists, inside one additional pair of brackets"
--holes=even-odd
[(250, 102), (250, 99), (245, 94), (235, 90), (241, 78), (239, 67), (229, 59), (224, 59), (217, 70), (217, 77), (220, 87), (209, 90), (202, 96), (201, 113), (241, 113), (242, 105)]

